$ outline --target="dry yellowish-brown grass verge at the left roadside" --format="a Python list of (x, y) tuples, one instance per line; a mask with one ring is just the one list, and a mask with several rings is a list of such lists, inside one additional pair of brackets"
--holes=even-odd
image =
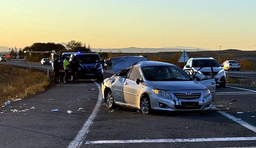
[(7, 100), (25, 98), (45, 89), (48, 78), (45, 73), (26, 68), (0, 65), (0, 104)]

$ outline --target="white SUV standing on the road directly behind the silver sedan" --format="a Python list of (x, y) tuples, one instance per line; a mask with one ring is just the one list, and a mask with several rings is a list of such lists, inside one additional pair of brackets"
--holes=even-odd
[[(224, 69), (222, 68), (223, 65), (219, 65), (219, 63), (214, 58), (190, 58), (183, 69), (193, 69), (195, 73), (197, 72), (197, 74), (195, 75), (195, 79), (197, 81), (200, 81), (203, 79), (212, 78), (211, 69), (209, 66), (213, 68), (216, 83), (221, 87), (225, 87), (226, 74)], [(197, 71), (200, 67), (205, 68)]]

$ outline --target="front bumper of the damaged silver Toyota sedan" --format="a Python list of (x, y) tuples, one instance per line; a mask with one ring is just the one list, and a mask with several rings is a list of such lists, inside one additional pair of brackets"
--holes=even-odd
[[(179, 91), (178, 93), (187, 93), (187, 91)], [(174, 92), (176, 93), (176, 92)], [(197, 91), (198, 93), (198, 91)], [(170, 94), (170, 93), (169, 93)], [(210, 103), (212, 100), (211, 94), (207, 97), (203, 97), (203, 93), (201, 91), (201, 96), (196, 99), (178, 99), (173, 93), (170, 94), (172, 98), (165, 98), (158, 94), (152, 93), (150, 97), (150, 105), (153, 110), (207, 110), (210, 109)], [(189, 105), (184, 105), (184, 103)], [(162, 105), (160, 105), (162, 104)], [(194, 105), (191, 105), (194, 104)], [(161, 106), (161, 107), (160, 107)]]

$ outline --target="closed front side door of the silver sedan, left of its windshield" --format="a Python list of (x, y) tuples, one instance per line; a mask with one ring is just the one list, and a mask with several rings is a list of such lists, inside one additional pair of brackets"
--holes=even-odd
[(139, 106), (139, 90), (140, 84), (135, 82), (135, 79), (141, 79), (140, 70), (133, 67), (124, 82), (124, 101), (126, 104), (138, 107)]

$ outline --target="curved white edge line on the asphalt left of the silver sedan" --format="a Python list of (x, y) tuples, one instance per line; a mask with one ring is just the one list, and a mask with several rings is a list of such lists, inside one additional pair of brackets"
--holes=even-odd
[(93, 112), (91, 113), (89, 118), (86, 120), (86, 122), (84, 122), (84, 125), (82, 126), (80, 131), (77, 133), (75, 139), (72, 140), (72, 142), (68, 145), (68, 148), (79, 148), (81, 146), (81, 144), (83, 143), (83, 140), (85, 139), (86, 135), (90, 130), (90, 126), (93, 124), (94, 118), (97, 116), (99, 107), (101, 106), (102, 93), (101, 93), (101, 86), (97, 82), (94, 82), (94, 83), (97, 85), (99, 89), (97, 104), (95, 105)]

